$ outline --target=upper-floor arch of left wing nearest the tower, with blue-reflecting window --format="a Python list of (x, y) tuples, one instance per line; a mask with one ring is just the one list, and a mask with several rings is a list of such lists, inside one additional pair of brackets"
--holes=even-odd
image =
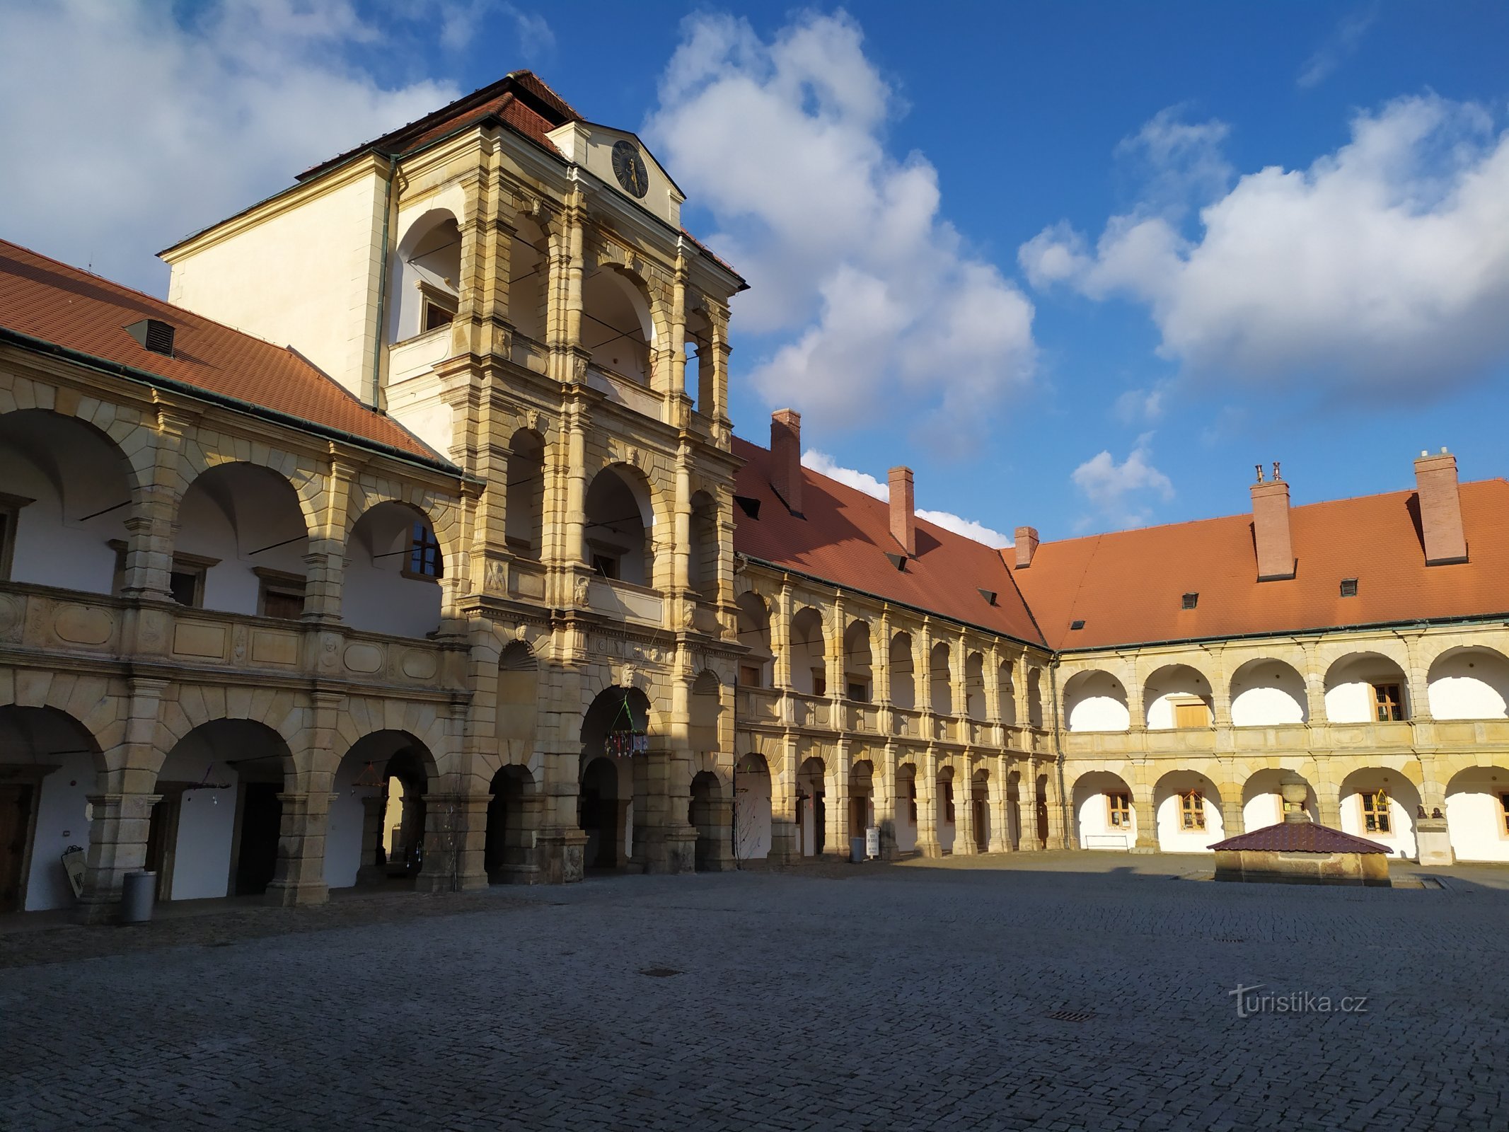
[(423, 637), (441, 625), (445, 564), (435, 527), (418, 507), (368, 507), (346, 540), (341, 614), (353, 629)]

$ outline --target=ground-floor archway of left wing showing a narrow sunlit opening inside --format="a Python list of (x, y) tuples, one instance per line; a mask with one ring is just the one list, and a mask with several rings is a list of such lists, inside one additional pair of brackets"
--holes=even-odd
[(430, 749), (406, 731), (374, 731), (352, 744), (335, 771), (324, 836), (332, 889), (412, 884), (426, 853), (444, 854), (439, 865), (457, 859), (459, 815), (447, 811), (432, 821), (426, 804), (435, 773)]

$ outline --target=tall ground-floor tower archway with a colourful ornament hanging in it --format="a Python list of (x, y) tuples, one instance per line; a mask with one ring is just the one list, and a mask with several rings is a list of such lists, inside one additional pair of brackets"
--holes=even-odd
[[(613, 845), (617, 865), (626, 863), (638, 845), (634, 839), (634, 824), (637, 815), (644, 814), (644, 789), (649, 777), (635, 774), (635, 759), (640, 762), (649, 755), (650, 732), (650, 702), (638, 688), (604, 688), (593, 697), (581, 720), (581, 770), (585, 776), (595, 762), (613, 767), (616, 774), (611, 803), (608, 801), (605, 776), (607, 770), (593, 770), (598, 785), (598, 797), (581, 811), (582, 832), (593, 844), (602, 847)], [(582, 777), (585, 783), (585, 777)], [(593, 857), (589, 857), (592, 860)], [(607, 848), (599, 848), (596, 859), (607, 860)], [(607, 866), (605, 866), (607, 868)]]

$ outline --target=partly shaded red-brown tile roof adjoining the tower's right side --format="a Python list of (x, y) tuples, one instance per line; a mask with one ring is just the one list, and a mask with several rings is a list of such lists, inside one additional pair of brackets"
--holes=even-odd
[[(917, 519), (917, 554), (898, 571), (886, 557), (899, 554), (901, 546), (890, 534), (890, 509), (884, 501), (803, 468), (803, 518), (797, 518), (770, 486), (770, 450), (735, 436), (733, 454), (745, 462), (735, 480), (735, 495), (759, 503), (759, 518), (735, 506), (735, 551), (1041, 644), (1032, 614), (990, 546)], [(996, 604), (981, 590), (994, 593)]]

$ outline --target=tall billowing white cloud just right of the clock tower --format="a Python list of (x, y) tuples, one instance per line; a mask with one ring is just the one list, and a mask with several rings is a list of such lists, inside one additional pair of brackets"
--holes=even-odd
[(886, 152), (896, 101), (844, 14), (770, 42), (694, 15), (646, 136), (751, 284), (738, 329), (794, 335), (751, 374), (765, 398), (827, 429), (910, 412), (958, 448), (1029, 379), (1032, 303), (940, 217), (934, 166)]

